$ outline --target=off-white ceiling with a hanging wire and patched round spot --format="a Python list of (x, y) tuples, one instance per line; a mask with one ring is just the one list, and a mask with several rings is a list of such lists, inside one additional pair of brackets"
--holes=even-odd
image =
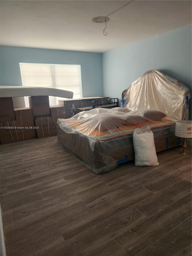
[[(129, 2), (0, 1), (0, 44), (103, 53), (191, 24), (190, 0), (136, 0), (116, 11)], [(91, 20), (108, 15), (104, 36), (105, 23)]]

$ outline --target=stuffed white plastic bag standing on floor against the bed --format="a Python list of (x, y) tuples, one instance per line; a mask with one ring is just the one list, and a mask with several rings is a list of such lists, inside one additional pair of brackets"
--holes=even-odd
[(137, 128), (133, 133), (135, 166), (158, 165), (154, 135), (151, 129)]

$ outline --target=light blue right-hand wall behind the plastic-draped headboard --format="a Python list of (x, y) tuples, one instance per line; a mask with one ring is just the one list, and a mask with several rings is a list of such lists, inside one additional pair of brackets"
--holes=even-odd
[(106, 52), (104, 96), (121, 98), (121, 92), (150, 69), (176, 78), (191, 91), (191, 55), (191, 25)]

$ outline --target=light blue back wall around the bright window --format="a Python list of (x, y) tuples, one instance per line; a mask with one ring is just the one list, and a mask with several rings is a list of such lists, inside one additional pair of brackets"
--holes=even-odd
[(1, 46), (0, 85), (22, 85), (19, 62), (81, 65), (83, 97), (103, 96), (102, 53)]

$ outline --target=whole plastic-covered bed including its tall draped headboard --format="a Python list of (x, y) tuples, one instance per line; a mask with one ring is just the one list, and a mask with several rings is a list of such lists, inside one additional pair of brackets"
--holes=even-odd
[[(140, 97), (138, 91), (143, 92)], [(122, 93), (122, 107), (58, 119), (58, 142), (94, 173), (113, 170), (134, 159), (133, 132), (138, 127), (151, 128), (157, 152), (180, 145), (175, 123), (187, 119), (189, 98), (189, 89), (182, 83), (160, 71), (148, 71)]]

